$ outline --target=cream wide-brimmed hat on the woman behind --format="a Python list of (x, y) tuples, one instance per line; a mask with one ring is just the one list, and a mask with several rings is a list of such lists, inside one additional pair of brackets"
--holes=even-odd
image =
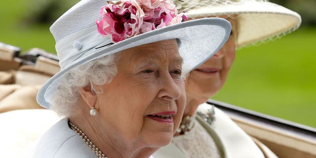
[(237, 19), (236, 46), (256, 44), (286, 35), (301, 24), (301, 16), (268, 0), (174, 0), (190, 19), (226, 17)]

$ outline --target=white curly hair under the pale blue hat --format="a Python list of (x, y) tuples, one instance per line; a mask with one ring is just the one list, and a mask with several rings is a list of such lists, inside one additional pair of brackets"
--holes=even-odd
[(102, 93), (102, 89), (95, 89), (93, 85), (109, 83), (116, 76), (117, 61), (120, 53), (107, 55), (84, 63), (68, 71), (58, 83), (56, 91), (51, 95), (51, 110), (59, 116), (69, 117), (75, 114), (74, 106), (78, 104), (79, 88), (91, 84), (91, 90)]

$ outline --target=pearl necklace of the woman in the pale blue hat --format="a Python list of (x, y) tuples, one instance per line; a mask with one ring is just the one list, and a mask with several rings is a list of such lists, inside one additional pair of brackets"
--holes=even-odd
[(93, 153), (98, 158), (107, 158), (91, 141), (90, 139), (77, 127), (75, 126), (71, 121), (69, 121), (69, 126), (72, 130), (77, 132), (77, 134), (83, 139), (83, 141), (90, 147), (90, 149), (93, 151)]

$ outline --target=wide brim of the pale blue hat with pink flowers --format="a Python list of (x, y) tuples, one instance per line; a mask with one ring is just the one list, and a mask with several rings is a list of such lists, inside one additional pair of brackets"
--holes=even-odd
[(59, 80), (76, 66), (121, 50), (161, 40), (178, 39), (179, 52), (184, 61), (183, 69), (191, 71), (217, 52), (228, 40), (230, 32), (231, 24), (227, 20), (203, 18), (166, 26), (95, 49), (91, 55), (74, 62), (48, 79), (40, 88), (37, 101), (42, 107), (49, 109), (49, 97), (55, 92)]

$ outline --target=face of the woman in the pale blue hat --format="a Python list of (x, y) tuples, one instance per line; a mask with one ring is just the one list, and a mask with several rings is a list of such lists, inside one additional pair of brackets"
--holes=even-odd
[(97, 101), (112, 141), (154, 148), (171, 141), (186, 101), (181, 68), (174, 39), (121, 52), (117, 76), (101, 87)]

